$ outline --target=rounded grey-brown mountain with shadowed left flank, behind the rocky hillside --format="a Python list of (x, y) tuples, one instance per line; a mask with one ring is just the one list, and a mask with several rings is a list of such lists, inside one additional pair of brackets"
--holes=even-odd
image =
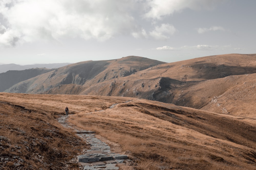
[(19, 93), (17, 89), (20, 89), (20, 86), (27, 87), (25, 93), (44, 93), (66, 84), (90, 86), (117, 77), (128, 76), (162, 63), (164, 62), (136, 56), (117, 60), (84, 61), (58, 68), (54, 72), (40, 75), (33, 80), (20, 82), (6, 92)]

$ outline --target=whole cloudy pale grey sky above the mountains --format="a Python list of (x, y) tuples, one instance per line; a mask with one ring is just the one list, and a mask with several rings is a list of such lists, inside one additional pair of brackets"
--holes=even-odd
[(255, 0), (0, 0), (0, 63), (256, 53)]

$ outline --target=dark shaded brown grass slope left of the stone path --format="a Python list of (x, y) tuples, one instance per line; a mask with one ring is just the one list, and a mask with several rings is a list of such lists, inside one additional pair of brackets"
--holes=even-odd
[(54, 112), (0, 101), (0, 157), (13, 159), (7, 164), (1, 161), (0, 169), (67, 169), (66, 164), (86, 148), (80, 138), (56, 122)]

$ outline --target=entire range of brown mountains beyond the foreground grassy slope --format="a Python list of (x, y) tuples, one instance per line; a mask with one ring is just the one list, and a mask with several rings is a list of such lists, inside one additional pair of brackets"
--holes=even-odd
[[(32, 71), (34, 72), (34, 71)], [(41, 74), (42, 72), (42, 74)], [(83, 61), (38, 75), (0, 74), (9, 93), (143, 98), (195, 109), (256, 118), (256, 54), (225, 54), (165, 63), (128, 56)], [(20, 77), (18, 76), (18, 77)], [(26, 80), (25, 80), (26, 79)]]

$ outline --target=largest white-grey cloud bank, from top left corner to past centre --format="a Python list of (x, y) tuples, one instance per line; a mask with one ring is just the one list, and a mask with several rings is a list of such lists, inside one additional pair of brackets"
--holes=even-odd
[(211, 9), (222, 1), (1, 0), (0, 47), (76, 37), (106, 41), (119, 35), (166, 40), (177, 30), (160, 24), (163, 17), (186, 8)]

